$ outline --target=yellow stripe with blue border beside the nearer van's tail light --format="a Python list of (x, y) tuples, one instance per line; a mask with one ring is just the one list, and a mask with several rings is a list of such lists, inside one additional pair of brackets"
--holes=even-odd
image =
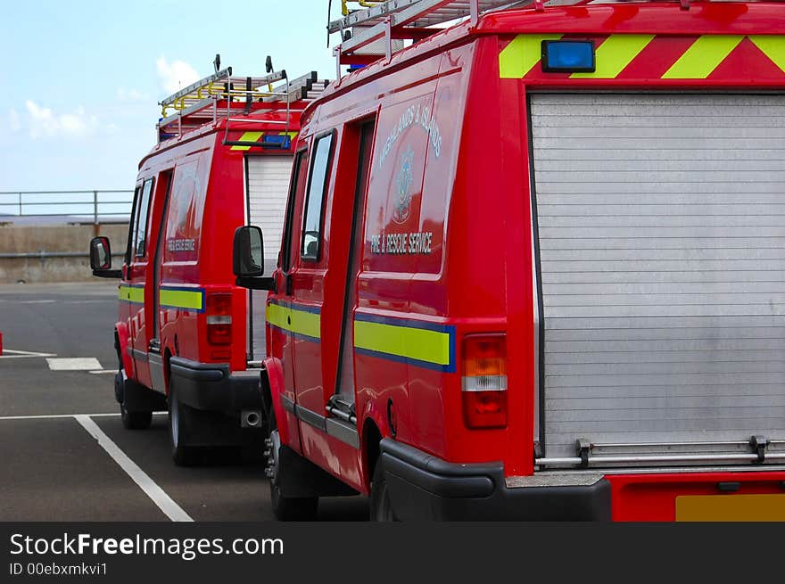
[(455, 371), (455, 327), (450, 325), (357, 314), (354, 348), (359, 354), (445, 373)]

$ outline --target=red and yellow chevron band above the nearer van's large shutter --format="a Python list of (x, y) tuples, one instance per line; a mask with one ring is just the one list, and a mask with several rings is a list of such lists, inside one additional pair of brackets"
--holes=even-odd
[[(543, 73), (541, 42), (594, 40), (593, 73)], [(785, 36), (518, 35), (499, 55), (501, 78), (537, 79), (785, 79)]]

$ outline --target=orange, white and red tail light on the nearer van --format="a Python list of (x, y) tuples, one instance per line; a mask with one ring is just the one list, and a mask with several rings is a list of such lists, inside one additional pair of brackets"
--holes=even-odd
[(468, 428), (507, 426), (507, 337), (473, 334), (463, 341), (463, 419)]

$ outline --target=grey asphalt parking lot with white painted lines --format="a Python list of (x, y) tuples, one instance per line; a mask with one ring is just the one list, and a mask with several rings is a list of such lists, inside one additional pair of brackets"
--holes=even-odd
[[(260, 457), (217, 449), (181, 468), (165, 415), (122, 427), (116, 315), (112, 281), (0, 284), (0, 521), (274, 520)], [(365, 498), (319, 501), (319, 520), (367, 517)]]

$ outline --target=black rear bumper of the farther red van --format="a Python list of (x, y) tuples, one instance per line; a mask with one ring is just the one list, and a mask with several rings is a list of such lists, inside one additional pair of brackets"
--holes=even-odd
[(262, 407), (259, 371), (232, 373), (227, 363), (200, 363), (181, 357), (169, 359), (178, 399), (196, 409), (238, 414)]

